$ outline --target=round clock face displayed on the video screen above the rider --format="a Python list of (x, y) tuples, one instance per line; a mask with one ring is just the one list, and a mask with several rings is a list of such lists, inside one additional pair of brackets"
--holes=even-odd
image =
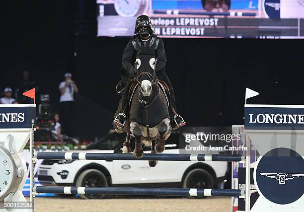
[(142, 0), (116, 0), (114, 7), (120, 16), (135, 16), (141, 6)]

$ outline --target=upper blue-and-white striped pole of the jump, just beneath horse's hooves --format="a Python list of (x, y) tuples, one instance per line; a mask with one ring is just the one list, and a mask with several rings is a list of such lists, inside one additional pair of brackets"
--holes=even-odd
[(144, 154), (141, 158), (124, 153), (37, 152), (37, 159), (51, 160), (164, 160), (164, 161), (244, 161), (241, 154)]

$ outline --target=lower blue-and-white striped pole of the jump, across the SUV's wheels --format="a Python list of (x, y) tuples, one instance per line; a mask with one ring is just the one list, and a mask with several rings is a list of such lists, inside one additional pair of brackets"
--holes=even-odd
[(34, 192), (52, 194), (102, 194), (102, 195), (153, 195), (191, 197), (243, 197), (239, 189), (176, 189), (176, 188), (119, 188), (119, 187), (64, 187), (35, 186)]

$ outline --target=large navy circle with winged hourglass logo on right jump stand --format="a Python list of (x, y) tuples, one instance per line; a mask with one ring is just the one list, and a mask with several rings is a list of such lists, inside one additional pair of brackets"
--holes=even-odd
[(285, 205), (304, 194), (304, 159), (289, 148), (276, 148), (260, 158), (255, 180), (258, 191), (269, 201)]

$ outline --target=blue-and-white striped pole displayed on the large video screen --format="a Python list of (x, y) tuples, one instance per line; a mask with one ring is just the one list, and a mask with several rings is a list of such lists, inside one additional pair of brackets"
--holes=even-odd
[(224, 15), (224, 16), (256, 16), (254, 12), (207, 12), (207, 11), (179, 11), (179, 10), (154, 10), (154, 14), (168, 15)]

